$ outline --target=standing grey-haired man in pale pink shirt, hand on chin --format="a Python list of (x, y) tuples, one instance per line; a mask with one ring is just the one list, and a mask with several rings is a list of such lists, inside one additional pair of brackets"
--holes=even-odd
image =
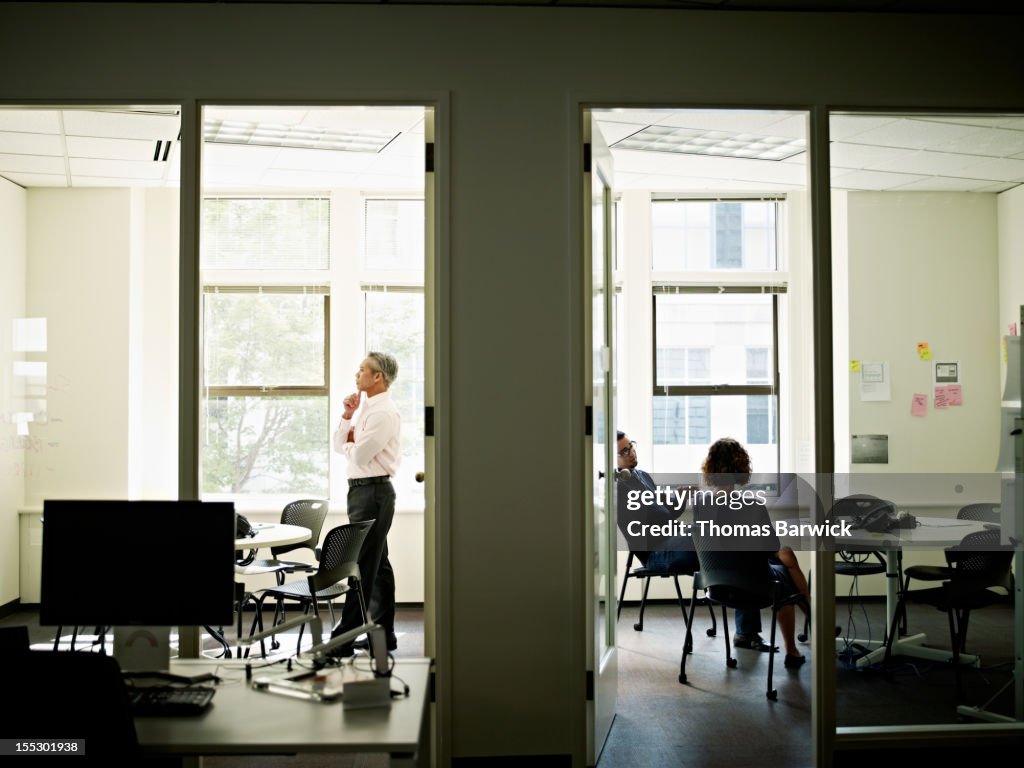
[[(348, 460), (348, 519), (376, 520), (359, 553), (359, 574), (370, 612), (367, 620), (384, 628), (388, 650), (398, 647), (394, 634), (394, 570), (387, 556), (387, 534), (394, 518), (391, 478), (401, 459), (401, 419), (388, 391), (397, 376), (398, 364), (390, 354), (367, 354), (355, 374), (357, 391), (342, 400), (344, 411), (334, 433), (334, 450)], [(358, 418), (354, 418), (356, 412)], [(341, 622), (331, 636), (337, 637), (360, 624), (358, 600), (346, 599)], [(341, 646), (334, 655), (350, 656), (353, 647), (358, 646)]]

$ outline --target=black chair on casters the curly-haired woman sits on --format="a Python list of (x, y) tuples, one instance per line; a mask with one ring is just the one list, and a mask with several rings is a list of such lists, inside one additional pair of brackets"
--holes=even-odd
[[(705, 537), (693, 537), (697, 557), (700, 560), (700, 580), (708, 601), (722, 606), (722, 631), (725, 634), (725, 666), (730, 670), (737, 666), (732, 656), (729, 644), (729, 620), (726, 608), (745, 608), (761, 610), (771, 608), (771, 633), (768, 640), (768, 682), (765, 695), (769, 700), (778, 698), (778, 692), (772, 688), (772, 675), (775, 669), (775, 626), (778, 609), (783, 605), (800, 602), (803, 595), (785, 594), (782, 585), (772, 578), (765, 552), (742, 552), (711, 549), (714, 540)], [(686, 640), (680, 654), (679, 682), (686, 683), (687, 648), (691, 643), (691, 625), (693, 611), (686, 627)]]

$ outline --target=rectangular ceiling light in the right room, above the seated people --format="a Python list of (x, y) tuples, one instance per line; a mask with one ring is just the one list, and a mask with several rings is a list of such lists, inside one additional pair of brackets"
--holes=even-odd
[(616, 150), (714, 155), (721, 158), (755, 160), (785, 160), (807, 150), (807, 143), (802, 138), (758, 136), (753, 133), (673, 128), (664, 125), (648, 125), (611, 145)]

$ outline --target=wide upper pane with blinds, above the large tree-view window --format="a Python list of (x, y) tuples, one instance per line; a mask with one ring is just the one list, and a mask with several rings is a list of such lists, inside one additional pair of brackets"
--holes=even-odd
[(318, 198), (203, 201), (204, 269), (327, 269), (331, 204)]

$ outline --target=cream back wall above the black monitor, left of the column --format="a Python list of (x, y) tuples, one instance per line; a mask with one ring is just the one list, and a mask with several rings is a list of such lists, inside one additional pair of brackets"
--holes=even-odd
[(48, 364), (29, 507), (128, 493), (131, 210), (127, 189), (29, 190), (27, 310), (46, 317)]

